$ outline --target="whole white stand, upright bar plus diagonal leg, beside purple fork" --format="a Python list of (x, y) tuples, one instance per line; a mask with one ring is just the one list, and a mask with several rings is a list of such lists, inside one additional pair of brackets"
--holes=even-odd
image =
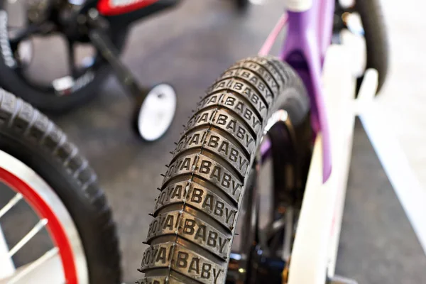
[(318, 135), (297, 224), (289, 284), (324, 284), (327, 278), (334, 277), (356, 116), (426, 253), (426, 191), (393, 134), (393, 116), (386, 115), (373, 99), (377, 71), (366, 71), (358, 98), (354, 99), (355, 78), (348, 55), (344, 45), (332, 45), (327, 51), (323, 80), (332, 136), (332, 175), (322, 183), (322, 138)]

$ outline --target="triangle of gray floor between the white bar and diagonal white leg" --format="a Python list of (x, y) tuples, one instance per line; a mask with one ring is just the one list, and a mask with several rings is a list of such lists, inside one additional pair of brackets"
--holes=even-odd
[(426, 257), (356, 121), (337, 273), (359, 283), (426, 283)]

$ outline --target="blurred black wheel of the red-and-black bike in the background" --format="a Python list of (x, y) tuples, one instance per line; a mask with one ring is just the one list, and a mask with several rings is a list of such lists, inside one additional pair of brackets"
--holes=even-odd
[[(0, 87), (41, 111), (69, 111), (98, 94), (99, 85), (109, 76), (111, 67), (89, 43), (84, 30), (87, 27), (80, 31), (76, 30), (76, 20), (62, 21), (60, 15), (70, 13), (67, 11), (69, 6), (50, 1), (40, 11), (38, 1), (31, 3), (0, 0), (1, 40), (4, 43), (0, 45)], [(9, 16), (9, 9), (13, 6), (19, 6), (14, 9), (25, 16), (24, 23), (18, 23), (17, 26), (12, 26), (13, 21), (19, 18), (16, 13)], [(31, 18), (34, 13), (31, 9), (40, 14), (37, 21)], [(42, 16), (41, 13), (46, 14)], [(36, 28), (39, 26), (44, 28)], [(126, 43), (126, 28), (111, 28), (109, 35), (116, 49), (121, 52)], [(62, 44), (55, 44), (54, 50), (48, 47), (48, 50), (39, 49), (38, 53), (33, 53), (37, 36), (38, 43), (44, 47), (46, 44), (43, 43), (49, 43), (46, 41), (49, 38), (59, 40), (58, 43)], [(58, 56), (55, 57), (55, 54)], [(83, 54), (85, 56), (82, 58)], [(65, 73), (37, 72), (31, 68), (31, 62), (35, 60), (42, 66), (51, 66), (54, 61), (55, 65), (65, 67)]]

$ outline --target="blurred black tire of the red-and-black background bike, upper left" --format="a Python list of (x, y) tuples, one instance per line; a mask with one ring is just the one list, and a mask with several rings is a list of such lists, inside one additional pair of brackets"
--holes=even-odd
[[(4, 9), (4, 2), (4, 0), (0, 0), (0, 9)], [(124, 48), (126, 38), (126, 30), (111, 32), (111, 40), (120, 52)], [(4, 56), (1, 56), (9, 53), (9, 50), (4, 50), (4, 48), (7, 48), (8, 45), (9, 39), (7, 39), (6, 44), (0, 45), (0, 87), (3, 87), (7, 91), (16, 94), (16, 96), (23, 98), (35, 108), (40, 109), (40, 111), (60, 114), (89, 102), (89, 100), (93, 99), (98, 94), (97, 91), (99, 90), (100, 85), (105, 79), (107, 79), (111, 72), (111, 67), (108, 62), (99, 59), (97, 60), (98, 63), (95, 63), (96, 66), (92, 68), (92, 80), (87, 80), (89, 81), (87, 84), (83, 84), (80, 89), (75, 90), (71, 94), (59, 96), (58, 94), (55, 94), (53, 87), (35, 86), (31, 82), (28, 82), (23, 75), (19, 74), (16, 67), (9, 67), (6, 64)], [(99, 57), (99, 55), (96, 56), (97, 58)], [(51, 59), (46, 56), (45, 60)], [(80, 78), (83, 76), (84, 75)]]

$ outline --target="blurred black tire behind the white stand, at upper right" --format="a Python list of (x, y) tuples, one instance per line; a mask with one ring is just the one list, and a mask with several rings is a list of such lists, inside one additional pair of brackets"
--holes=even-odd
[[(389, 43), (385, 20), (379, 0), (356, 0), (355, 11), (359, 13), (366, 39), (366, 68), (378, 71), (377, 93), (380, 92), (388, 75)], [(359, 78), (358, 85), (362, 78)]]

